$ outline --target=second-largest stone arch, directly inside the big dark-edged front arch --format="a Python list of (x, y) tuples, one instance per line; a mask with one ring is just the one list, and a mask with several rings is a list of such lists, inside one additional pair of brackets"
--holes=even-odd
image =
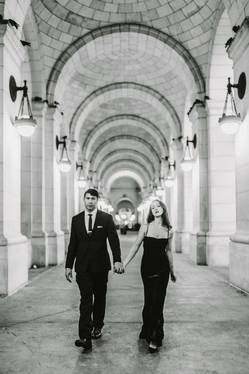
[(71, 139), (77, 139), (79, 137), (82, 123), (92, 108), (114, 97), (126, 96), (139, 98), (153, 105), (160, 113), (165, 115), (166, 122), (169, 123), (174, 136), (177, 137), (181, 135), (181, 122), (179, 117), (173, 106), (164, 96), (150, 87), (139, 85), (138, 83), (122, 82), (112, 83), (111, 85), (99, 88), (95, 92), (92, 92), (82, 104), (80, 104), (70, 123)]

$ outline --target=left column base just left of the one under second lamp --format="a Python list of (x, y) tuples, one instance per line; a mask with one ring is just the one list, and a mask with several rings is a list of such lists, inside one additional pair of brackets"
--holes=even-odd
[(32, 232), (32, 265), (48, 266), (49, 247), (47, 234), (43, 231)]

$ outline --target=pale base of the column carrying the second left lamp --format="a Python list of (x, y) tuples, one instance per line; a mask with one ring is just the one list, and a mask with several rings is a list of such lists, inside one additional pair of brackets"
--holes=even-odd
[(59, 265), (65, 260), (64, 232), (48, 232), (48, 261), (49, 265)]

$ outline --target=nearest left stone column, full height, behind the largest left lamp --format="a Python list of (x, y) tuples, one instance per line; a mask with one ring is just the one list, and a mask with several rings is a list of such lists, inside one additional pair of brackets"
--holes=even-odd
[(0, 294), (10, 295), (28, 281), (27, 238), (21, 234), (21, 140), (13, 126), (21, 92), (12, 102), (9, 78), (21, 83), (25, 50), (9, 24), (0, 24)]

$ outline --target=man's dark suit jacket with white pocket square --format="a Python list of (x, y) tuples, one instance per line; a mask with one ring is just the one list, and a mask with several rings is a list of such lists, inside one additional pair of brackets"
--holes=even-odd
[(107, 238), (113, 253), (113, 263), (121, 262), (119, 237), (111, 214), (98, 209), (93, 225), (92, 235), (86, 231), (84, 212), (72, 218), (70, 242), (68, 245), (65, 267), (73, 269), (76, 273), (87, 270), (88, 264), (91, 272), (100, 273), (111, 270), (110, 256), (107, 251)]

